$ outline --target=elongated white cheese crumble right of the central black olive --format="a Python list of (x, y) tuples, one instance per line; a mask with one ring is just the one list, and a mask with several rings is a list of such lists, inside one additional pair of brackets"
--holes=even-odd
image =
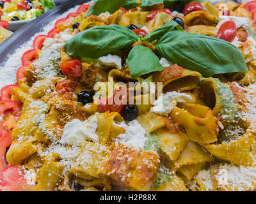
[(176, 91), (167, 92), (160, 96), (154, 103), (154, 107), (151, 108), (152, 112), (159, 115), (169, 115), (172, 112), (173, 107), (177, 103), (195, 103), (195, 99), (189, 94), (179, 93)]

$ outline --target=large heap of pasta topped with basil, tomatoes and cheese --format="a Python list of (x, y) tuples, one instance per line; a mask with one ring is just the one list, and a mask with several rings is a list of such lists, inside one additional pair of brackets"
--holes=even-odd
[(0, 189), (253, 191), (250, 3), (102, 2), (35, 40), (2, 89)]

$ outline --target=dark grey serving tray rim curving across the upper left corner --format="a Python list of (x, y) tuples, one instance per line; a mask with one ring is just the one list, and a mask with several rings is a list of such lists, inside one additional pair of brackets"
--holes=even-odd
[(15, 49), (19, 48), (26, 41), (30, 40), (36, 33), (38, 33), (46, 24), (52, 20), (58, 18), (62, 13), (68, 11), (76, 5), (87, 3), (90, 0), (70, 0), (67, 3), (60, 4), (50, 11), (47, 11), (43, 15), (32, 22), (20, 27), (15, 33), (0, 44), (0, 66), (6, 61), (6, 56), (13, 54)]

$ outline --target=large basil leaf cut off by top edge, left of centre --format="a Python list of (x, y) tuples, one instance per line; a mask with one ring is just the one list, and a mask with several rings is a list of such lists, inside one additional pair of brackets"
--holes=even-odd
[(95, 0), (87, 11), (86, 17), (90, 15), (100, 15), (100, 13), (104, 13), (106, 11), (112, 14), (120, 7), (124, 7), (129, 10), (136, 6), (138, 6), (136, 0)]

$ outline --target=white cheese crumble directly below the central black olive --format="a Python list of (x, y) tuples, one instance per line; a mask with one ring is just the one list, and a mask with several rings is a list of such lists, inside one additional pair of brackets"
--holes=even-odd
[(125, 129), (125, 133), (118, 135), (116, 145), (118, 143), (122, 143), (131, 149), (143, 150), (144, 144), (147, 140), (145, 138), (146, 131), (141, 127), (138, 120), (132, 120), (128, 124), (125, 124), (123, 121), (120, 124), (115, 125)]

